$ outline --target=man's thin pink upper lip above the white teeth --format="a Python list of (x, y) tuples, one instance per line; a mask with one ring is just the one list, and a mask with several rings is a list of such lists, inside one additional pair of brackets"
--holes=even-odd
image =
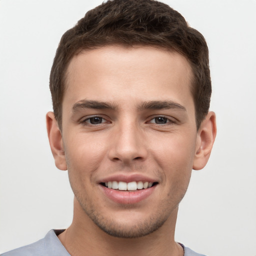
[(155, 178), (148, 177), (143, 174), (139, 173), (132, 173), (132, 174), (127, 174), (127, 173), (115, 173), (112, 175), (109, 175), (107, 177), (99, 179), (98, 183), (104, 183), (107, 181), (123, 181), (123, 182), (131, 182), (131, 181), (148, 181), (148, 182), (157, 182)]

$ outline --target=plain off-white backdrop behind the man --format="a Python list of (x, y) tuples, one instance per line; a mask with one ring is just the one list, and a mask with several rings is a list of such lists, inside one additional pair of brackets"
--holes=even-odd
[[(102, 0), (0, 0), (0, 252), (72, 219), (45, 113), (59, 39)], [(256, 1), (164, 0), (206, 38), (217, 137), (193, 171), (175, 239), (206, 255), (256, 255)]]

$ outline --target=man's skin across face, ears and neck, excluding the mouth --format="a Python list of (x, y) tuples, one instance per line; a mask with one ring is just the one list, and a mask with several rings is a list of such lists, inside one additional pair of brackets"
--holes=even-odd
[[(46, 116), (55, 164), (68, 169), (74, 192), (72, 224), (58, 236), (71, 255), (182, 255), (178, 204), (216, 134), (213, 112), (196, 129), (191, 77), (183, 56), (155, 47), (104, 46), (72, 58), (62, 131)], [(113, 174), (156, 185), (137, 203), (117, 203), (99, 184)]]

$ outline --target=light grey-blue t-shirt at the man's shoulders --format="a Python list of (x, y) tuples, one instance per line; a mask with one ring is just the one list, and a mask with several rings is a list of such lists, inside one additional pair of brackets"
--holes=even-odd
[[(44, 238), (29, 245), (10, 250), (0, 254), (0, 256), (70, 256), (62, 245), (57, 235), (64, 229), (51, 229)], [(188, 247), (183, 246), (184, 256), (205, 256), (198, 254)]]

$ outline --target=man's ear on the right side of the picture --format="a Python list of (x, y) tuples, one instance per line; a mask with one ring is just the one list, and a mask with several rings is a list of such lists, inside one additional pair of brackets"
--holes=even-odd
[(216, 116), (214, 112), (208, 112), (197, 131), (193, 169), (200, 170), (206, 165), (215, 136)]

